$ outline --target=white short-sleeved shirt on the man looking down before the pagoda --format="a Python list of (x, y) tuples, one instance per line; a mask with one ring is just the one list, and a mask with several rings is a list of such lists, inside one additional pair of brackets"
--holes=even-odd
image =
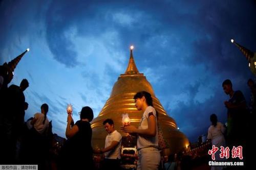
[(121, 159), (121, 140), (122, 140), (122, 136), (119, 132), (117, 132), (116, 130), (114, 132), (112, 132), (111, 134), (106, 135), (106, 139), (105, 139), (105, 148), (109, 147), (112, 143), (112, 141), (117, 141), (119, 142), (119, 144), (116, 146), (116, 148), (114, 148), (113, 150), (109, 151), (109, 152), (105, 152), (105, 158), (106, 159)]

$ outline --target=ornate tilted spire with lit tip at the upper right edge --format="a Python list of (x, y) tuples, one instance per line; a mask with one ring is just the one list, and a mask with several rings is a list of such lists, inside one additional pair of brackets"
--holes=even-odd
[(256, 75), (256, 53), (251, 52), (246, 47), (240, 45), (233, 39), (231, 39), (231, 43), (235, 44), (239, 48), (239, 50), (243, 53), (243, 55), (245, 56), (245, 58), (247, 59), (247, 61), (249, 63), (251, 72), (254, 75)]

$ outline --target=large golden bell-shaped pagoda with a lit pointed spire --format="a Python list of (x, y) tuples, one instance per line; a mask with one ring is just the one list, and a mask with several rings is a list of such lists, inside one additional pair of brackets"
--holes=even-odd
[(115, 129), (121, 133), (122, 136), (126, 134), (121, 132), (122, 114), (128, 113), (131, 119), (131, 125), (139, 126), (142, 117), (142, 111), (138, 111), (135, 107), (134, 95), (138, 91), (147, 91), (151, 93), (153, 98), (153, 105), (158, 111), (158, 123), (163, 131), (163, 136), (169, 145), (169, 149), (165, 155), (169, 153), (178, 153), (187, 149), (189, 141), (186, 136), (177, 129), (175, 120), (169, 117), (161, 105), (160, 101), (156, 98), (154, 90), (146, 80), (146, 77), (139, 73), (134, 58), (133, 46), (131, 46), (131, 54), (129, 64), (124, 74), (121, 74), (115, 83), (110, 98), (106, 101), (104, 107), (100, 111), (98, 117), (92, 120), (92, 145), (93, 148), (103, 148), (107, 132), (105, 131), (102, 123), (105, 119), (111, 118), (114, 121)]

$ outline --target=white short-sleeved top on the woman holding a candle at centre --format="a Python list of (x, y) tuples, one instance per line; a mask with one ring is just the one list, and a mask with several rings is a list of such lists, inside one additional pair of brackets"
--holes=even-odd
[[(152, 106), (148, 106), (146, 110), (144, 111), (142, 118), (140, 119), (140, 124), (139, 124), (139, 129), (147, 129), (148, 128), (148, 114), (153, 113), (156, 119), (156, 128), (157, 128), (157, 114), (156, 110)], [(142, 148), (148, 148), (148, 147), (154, 147), (158, 148), (158, 129), (156, 129), (156, 136), (154, 137), (145, 137), (145, 136), (140, 136), (138, 135), (137, 139), (137, 147), (138, 149)]]

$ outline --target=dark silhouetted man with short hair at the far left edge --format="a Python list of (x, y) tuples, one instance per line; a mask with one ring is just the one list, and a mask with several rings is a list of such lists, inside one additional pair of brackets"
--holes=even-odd
[(23, 79), (19, 86), (11, 85), (7, 89), (3, 117), (3, 145), (1, 157), (3, 163), (14, 163), (16, 143), (22, 132), (25, 115), (24, 90), (29, 86), (28, 80)]

